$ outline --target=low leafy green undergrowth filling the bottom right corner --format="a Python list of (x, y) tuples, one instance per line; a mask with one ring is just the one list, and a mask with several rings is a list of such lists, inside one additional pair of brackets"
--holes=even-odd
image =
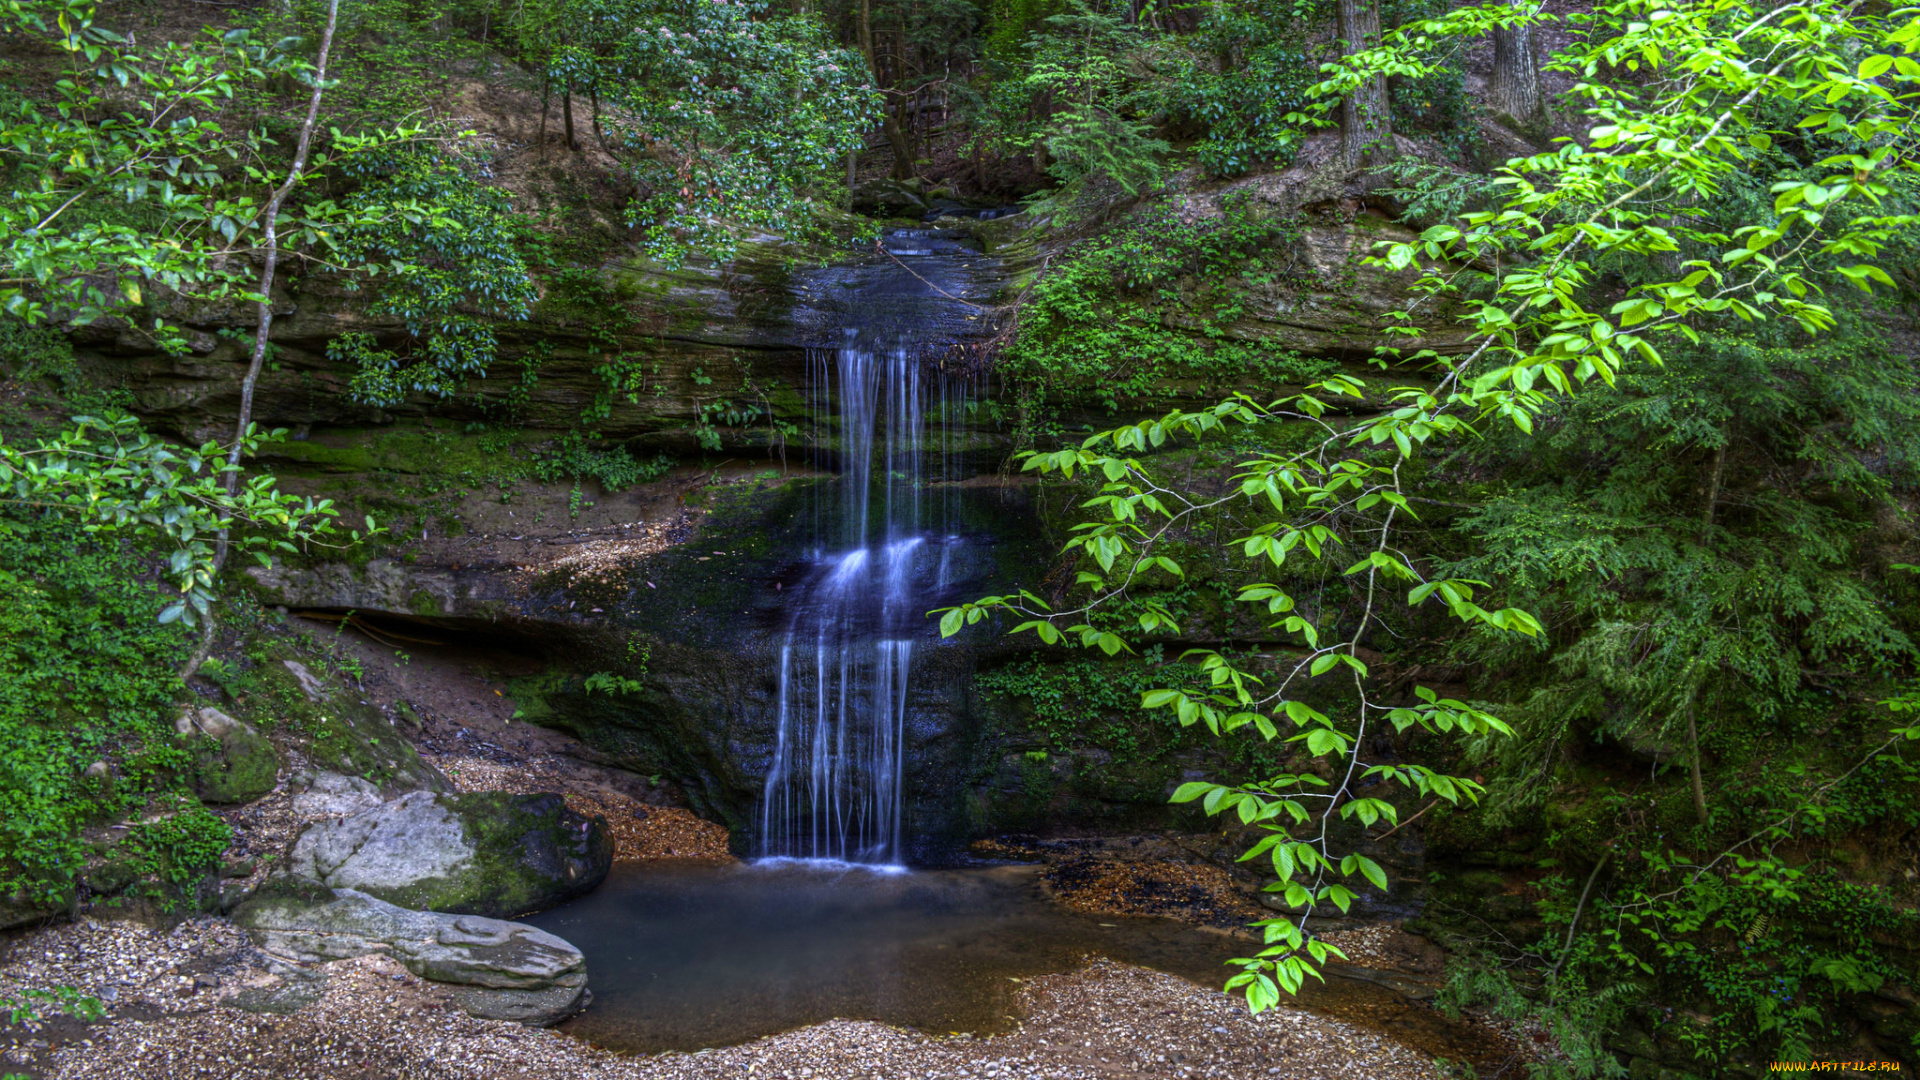
[[(1910, 719), (1920, 698), (1885, 705)], [(1818, 1043), (1845, 1036), (1857, 995), (1912, 980), (1884, 947), (1912, 936), (1912, 911), (1849, 880), (1851, 855), (1834, 859), (1820, 842), (1920, 822), (1920, 767), (1903, 753), (1914, 740), (1920, 726), (1895, 728), (1824, 782), (1803, 759), (1768, 769), (1726, 798), (1738, 821), (1720, 836), (1734, 840), (1713, 857), (1688, 853), (1711, 849), (1705, 830), (1630, 836), (1645, 847), (1622, 851), (1599, 928), (1569, 934), (1574, 967), (1653, 976), (1693, 1001), (1705, 1019), (1667, 1034), (1703, 1063), (1755, 1049), (1816, 1057)], [(1812, 857), (1784, 857), (1789, 846)]]

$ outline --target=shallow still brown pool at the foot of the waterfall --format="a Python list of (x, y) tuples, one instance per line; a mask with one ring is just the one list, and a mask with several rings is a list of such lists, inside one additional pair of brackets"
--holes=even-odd
[[(1217, 988), (1244, 942), (1171, 919), (1087, 917), (1048, 901), (1035, 867), (876, 871), (818, 863), (637, 863), (528, 919), (588, 957), (593, 1005), (564, 1030), (609, 1049), (732, 1045), (835, 1017), (925, 1032), (1014, 1026), (1021, 978), (1089, 953)], [(1367, 982), (1302, 1005), (1427, 1053), (1480, 1040)]]

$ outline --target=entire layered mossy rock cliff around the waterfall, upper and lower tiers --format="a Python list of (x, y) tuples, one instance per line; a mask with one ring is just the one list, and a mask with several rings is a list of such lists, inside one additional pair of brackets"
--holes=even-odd
[[(1352, 361), (1384, 340), (1407, 284), (1407, 275), (1361, 259), (1405, 231), (1332, 196), (1308, 206), (1311, 192), (1283, 181), (1242, 184), (1235, 198), (1298, 221), (1284, 258), (1302, 273), (1288, 275), (1292, 286), (1248, 282), (1240, 315), (1213, 332)], [(1192, 192), (1183, 206), (1215, 215), (1225, 198)], [(868, 246), (803, 250), (772, 236), (751, 238), (724, 267), (614, 258), (570, 284), (549, 284), (530, 321), (501, 325), (499, 361), (470, 392), (390, 409), (351, 400), (351, 373), (326, 359), (326, 344), (396, 327), (367, 319), (361, 298), (326, 279), (296, 279), (278, 298), (275, 365), (255, 398), (259, 423), (288, 427), (294, 440), (269, 450), (265, 467), (294, 490), (340, 500), (349, 519), (369, 509), (411, 525), (405, 542), (384, 542), (371, 559), (307, 557), (248, 573), (267, 603), (351, 611), (436, 640), (545, 657), (549, 673), (515, 688), (530, 721), (580, 736), (609, 763), (672, 776), (703, 815), (751, 842), (774, 746), (787, 601), (843, 503), (835, 475), (845, 432), (808, 392), (822, 350), (860, 325), (910, 344), (927, 363), (964, 359), (1006, 327), (1035, 275), (1071, 242), (1021, 215), (948, 217), (887, 238), (897, 252), (954, 256), (943, 259)], [(240, 336), (221, 331), (242, 327), (244, 315), (179, 313), (198, 342), (184, 357), (154, 356), (136, 334), (111, 329), (81, 348), (94, 371), (132, 390), (150, 421), (221, 436), (246, 359)], [(1425, 344), (1457, 346), (1446, 313), (1428, 321)], [(1044, 507), (996, 477), (1012, 425), (989, 404), (991, 379), (973, 392), (977, 407), (941, 415), (948, 457), (927, 469), (958, 536), (939, 603), (1031, 586), (1058, 563)], [(1158, 394), (1142, 415), (1212, 402), (1217, 386), (1173, 380)], [(1062, 402), (1060, 413), (1068, 429), (1133, 419), (1094, 402)], [(461, 430), (472, 425), (499, 442)], [(541, 488), (524, 469), (518, 486), (499, 480), (497, 502), (486, 490), (505, 454), (582, 429), (682, 467), (620, 496), (588, 482), (568, 500), (564, 486)], [(660, 542), (624, 540), (637, 525)], [(1102, 751), (1033, 763), (1033, 746), (1014, 730), (1018, 711), (981, 696), (973, 680), (1016, 651), (1025, 646), (987, 626), (943, 644), (931, 621), (916, 644), (906, 703), (916, 853), (1046, 821), (1167, 822), (1160, 780), (1177, 780), (1179, 767), (1146, 782), (1100, 761)], [(586, 678), (601, 673), (630, 682), (589, 690)], [(1179, 763), (1204, 765), (1190, 755)]]

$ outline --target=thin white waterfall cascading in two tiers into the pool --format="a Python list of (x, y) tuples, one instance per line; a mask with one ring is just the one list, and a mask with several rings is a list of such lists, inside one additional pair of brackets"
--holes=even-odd
[[(812, 361), (816, 417), (837, 413), (837, 528), (797, 592), (780, 646), (778, 736), (760, 805), (760, 855), (899, 865), (906, 853), (902, 765), (914, 642), (947, 584), (947, 502), (922, 505), (927, 386), (950, 469), (950, 413), (968, 390), (924, 375), (904, 346), (849, 336)], [(924, 515), (931, 511), (937, 521)], [(939, 527), (939, 528), (929, 528)], [(828, 544), (833, 544), (828, 548)]]

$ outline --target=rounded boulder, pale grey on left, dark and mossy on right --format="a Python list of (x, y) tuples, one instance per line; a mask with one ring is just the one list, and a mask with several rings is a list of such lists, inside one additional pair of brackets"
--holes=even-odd
[(309, 824), (288, 872), (403, 907), (505, 919), (572, 899), (609, 867), (607, 822), (561, 796), (413, 792)]

